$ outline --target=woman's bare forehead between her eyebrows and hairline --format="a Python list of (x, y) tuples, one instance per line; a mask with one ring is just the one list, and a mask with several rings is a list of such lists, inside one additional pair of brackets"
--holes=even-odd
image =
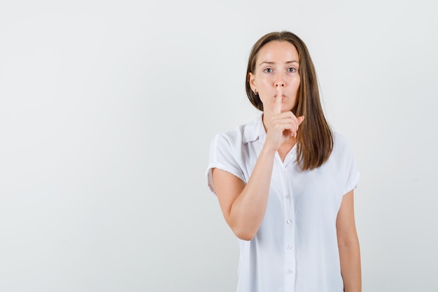
[(256, 63), (298, 61), (297, 48), (288, 41), (270, 41), (260, 48)]

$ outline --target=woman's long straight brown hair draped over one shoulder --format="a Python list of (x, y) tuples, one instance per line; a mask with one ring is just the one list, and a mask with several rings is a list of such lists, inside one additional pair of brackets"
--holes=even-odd
[(271, 32), (262, 36), (253, 46), (246, 70), (246, 95), (255, 108), (263, 111), (258, 95), (250, 88), (249, 74), (255, 71), (257, 53), (270, 41), (288, 41), (297, 48), (299, 56), (300, 84), (297, 105), (292, 112), (295, 116), (305, 116), (297, 132), (297, 162), (302, 170), (320, 167), (330, 157), (333, 150), (333, 134), (325, 120), (320, 103), (318, 80), (309, 50), (304, 41), (292, 32)]

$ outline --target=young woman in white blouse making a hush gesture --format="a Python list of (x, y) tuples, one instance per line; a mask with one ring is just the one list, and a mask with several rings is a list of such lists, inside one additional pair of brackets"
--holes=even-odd
[(208, 186), (240, 239), (238, 292), (361, 291), (348, 141), (320, 104), (304, 42), (266, 34), (248, 60), (246, 92), (262, 115), (211, 142)]

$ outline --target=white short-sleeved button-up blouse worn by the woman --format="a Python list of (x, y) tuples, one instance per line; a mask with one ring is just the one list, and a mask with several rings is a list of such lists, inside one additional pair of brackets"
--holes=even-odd
[[(213, 168), (248, 182), (265, 139), (261, 116), (217, 134), (206, 171), (210, 190), (215, 193)], [(359, 181), (353, 151), (334, 133), (332, 154), (321, 167), (302, 171), (296, 153), (294, 146), (284, 162), (276, 153), (262, 225), (252, 240), (239, 239), (237, 292), (344, 291), (336, 218), (343, 195)]]

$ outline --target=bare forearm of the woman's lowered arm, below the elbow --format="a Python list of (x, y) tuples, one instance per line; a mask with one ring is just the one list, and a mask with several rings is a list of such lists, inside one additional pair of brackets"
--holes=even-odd
[(351, 242), (339, 244), (339, 258), (342, 279), (344, 279), (344, 291), (361, 292), (360, 247), (357, 238)]

